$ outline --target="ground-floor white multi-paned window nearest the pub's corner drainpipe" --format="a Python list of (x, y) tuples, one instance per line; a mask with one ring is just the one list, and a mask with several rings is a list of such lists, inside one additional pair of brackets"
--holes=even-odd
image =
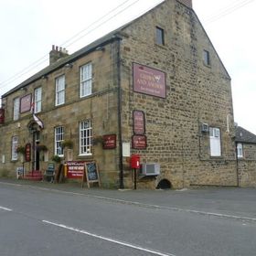
[(91, 120), (80, 122), (80, 155), (91, 155)]

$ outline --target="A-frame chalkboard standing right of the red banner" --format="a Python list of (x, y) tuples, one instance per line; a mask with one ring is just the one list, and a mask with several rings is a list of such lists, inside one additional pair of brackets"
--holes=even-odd
[(83, 183), (85, 182), (85, 180), (87, 182), (88, 188), (90, 188), (91, 183), (96, 183), (96, 182), (99, 184), (99, 187), (101, 187), (99, 169), (95, 161), (85, 163), (84, 173), (81, 181), (81, 187), (83, 187)]

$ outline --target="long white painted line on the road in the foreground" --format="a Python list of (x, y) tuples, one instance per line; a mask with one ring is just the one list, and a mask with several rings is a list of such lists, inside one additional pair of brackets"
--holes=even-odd
[(147, 248), (144, 248), (144, 247), (141, 247), (141, 246), (138, 246), (138, 245), (133, 245), (131, 243), (124, 242), (124, 241), (121, 241), (121, 240), (114, 240), (114, 239), (111, 239), (111, 238), (102, 237), (100, 235), (93, 234), (93, 233), (88, 232), (86, 230), (68, 227), (66, 225), (59, 224), (59, 223), (54, 223), (54, 222), (51, 222), (51, 221), (48, 221), (48, 220), (42, 220), (42, 221), (44, 223), (49, 224), (49, 225), (53, 225), (53, 226), (56, 226), (56, 227), (59, 227), (59, 228), (62, 228), (62, 229), (69, 229), (69, 230), (74, 231), (74, 232), (85, 234), (87, 236), (91, 236), (91, 237), (96, 238), (96, 239), (106, 240), (106, 241), (109, 241), (109, 242), (112, 242), (112, 243), (120, 244), (120, 245), (125, 246), (125, 247), (133, 248), (135, 250), (145, 251), (145, 252), (149, 252), (149, 253), (159, 255), (159, 256), (176, 256), (175, 254), (169, 254), (169, 253), (165, 253), (165, 252), (161, 252), (161, 251), (155, 251), (155, 250), (147, 249)]

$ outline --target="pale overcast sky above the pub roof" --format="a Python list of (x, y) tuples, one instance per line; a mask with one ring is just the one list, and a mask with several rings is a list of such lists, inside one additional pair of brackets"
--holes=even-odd
[[(73, 53), (161, 2), (2, 1), (0, 95), (48, 66), (52, 45)], [(193, 0), (193, 6), (231, 76), (235, 121), (256, 134), (256, 0)]]

